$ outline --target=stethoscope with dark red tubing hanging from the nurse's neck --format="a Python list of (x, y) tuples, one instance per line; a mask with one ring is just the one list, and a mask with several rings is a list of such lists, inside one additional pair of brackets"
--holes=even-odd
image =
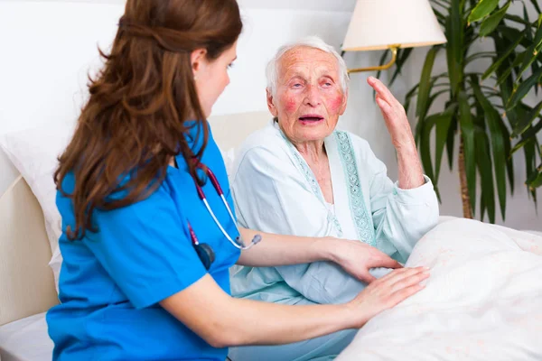
[[(220, 199), (222, 199), (222, 203), (224, 203), (224, 206), (226, 207), (226, 209), (228, 209), (229, 218), (231, 219), (231, 221), (235, 225), (236, 229), (238, 230), (239, 236), (236, 237), (235, 241), (234, 241), (231, 238), (231, 236), (229, 236), (228, 232), (226, 232), (224, 227), (222, 227), (222, 225), (220, 224), (219, 219), (215, 216), (214, 212), (210, 208), (209, 202), (207, 201), (207, 198), (205, 197), (205, 193), (201, 189), (200, 184), (198, 184), (197, 180), (194, 180), (196, 190), (198, 190), (198, 196), (200, 197), (201, 201), (205, 205), (205, 208), (207, 208), (207, 211), (209, 212), (210, 217), (214, 220), (215, 224), (220, 228), (220, 231), (222, 232), (222, 235), (224, 235), (229, 240), (229, 243), (231, 245), (234, 245), (238, 249), (247, 250), (250, 247), (252, 247), (253, 245), (256, 245), (259, 241), (261, 241), (262, 236), (256, 235), (256, 236), (254, 236), (254, 238), (252, 238), (252, 241), (250, 242), (250, 245), (245, 245), (245, 243), (243, 242), (243, 240), (242, 240), (242, 238), (240, 236), (240, 232), (239, 232), (239, 229), (237, 227), (237, 222), (236, 222), (235, 218), (233, 217), (233, 213), (231, 212), (231, 208), (229, 208), (228, 201), (224, 197), (224, 192), (222, 191), (222, 188), (220, 187), (219, 180), (217, 180), (217, 177), (215, 177), (214, 173), (212, 171), (210, 171), (209, 167), (205, 166), (203, 163), (198, 162), (197, 168), (201, 169), (201, 171), (204, 171), (205, 174), (207, 175), (207, 177), (209, 177), (210, 182), (212, 183), (214, 189), (217, 191), (217, 194), (220, 196)], [(190, 232), (190, 237), (192, 238), (192, 245), (193, 245), (196, 253), (200, 257), (201, 263), (205, 266), (205, 269), (209, 270), (210, 265), (214, 262), (214, 260), (216, 258), (216, 255), (215, 255), (212, 247), (210, 245), (206, 244), (206, 243), (200, 243), (198, 241), (198, 237), (196, 236), (196, 233), (194, 232), (190, 222), (188, 222), (188, 230)]]

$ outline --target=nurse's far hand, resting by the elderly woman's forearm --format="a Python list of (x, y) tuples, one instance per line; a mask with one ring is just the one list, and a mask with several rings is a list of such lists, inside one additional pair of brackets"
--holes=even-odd
[(333, 247), (333, 262), (339, 264), (344, 271), (350, 273), (363, 282), (373, 282), (376, 278), (369, 273), (369, 269), (377, 267), (401, 268), (403, 267), (389, 255), (375, 247), (366, 245), (360, 241), (341, 239), (339, 244)]

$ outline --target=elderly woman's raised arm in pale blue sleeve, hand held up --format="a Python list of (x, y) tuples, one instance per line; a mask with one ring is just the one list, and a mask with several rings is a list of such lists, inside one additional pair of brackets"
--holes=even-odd
[(373, 174), (370, 202), (378, 248), (406, 262), (417, 240), (438, 222), (438, 201), (431, 180), (423, 175), (405, 108), (378, 79), (369, 77), (368, 82), (377, 92), (377, 104), (397, 150), (399, 178), (392, 184), (386, 166), (367, 152)]

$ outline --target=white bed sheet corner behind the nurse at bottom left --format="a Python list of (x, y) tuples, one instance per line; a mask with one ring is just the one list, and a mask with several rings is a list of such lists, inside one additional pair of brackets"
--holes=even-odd
[(45, 313), (0, 327), (2, 361), (51, 361), (52, 347)]

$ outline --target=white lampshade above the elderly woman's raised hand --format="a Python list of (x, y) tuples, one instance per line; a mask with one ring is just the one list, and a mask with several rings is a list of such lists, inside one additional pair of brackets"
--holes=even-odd
[(358, 0), (343, 51), (442, 44), (446, 37), (428, 0)]

